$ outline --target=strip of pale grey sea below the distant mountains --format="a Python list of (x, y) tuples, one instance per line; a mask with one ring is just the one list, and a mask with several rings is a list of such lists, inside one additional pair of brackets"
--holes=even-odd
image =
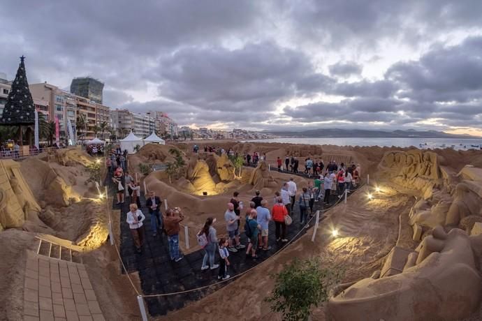
[(417, 147), (422, 149), (453, 148), (456, 150), (479, 149), (482, 138), (390, 138), (390, 137), (322, 137), (322, 138), (272, 138), (270, 140), (246, 140), (244, 142), (285, 142), (289, 144)]

